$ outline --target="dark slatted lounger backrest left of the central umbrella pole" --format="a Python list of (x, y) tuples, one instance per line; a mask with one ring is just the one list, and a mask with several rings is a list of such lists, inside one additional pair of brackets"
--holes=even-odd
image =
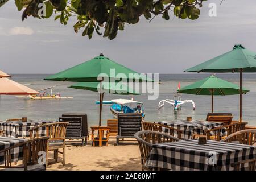
[(68, 122), (66, 138), (82, 137), (82, 117), (59, 117), (59, 122)]

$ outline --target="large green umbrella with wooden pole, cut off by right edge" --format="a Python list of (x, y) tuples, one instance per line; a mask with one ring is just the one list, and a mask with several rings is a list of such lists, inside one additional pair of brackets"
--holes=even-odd
[(214, 57), (185, 70), (186, 72), (239, 72), (240, 73), (240, 121), (242, 121), (242, 72), (256, 72), (256, 52), (238, 44), (232, 51)]

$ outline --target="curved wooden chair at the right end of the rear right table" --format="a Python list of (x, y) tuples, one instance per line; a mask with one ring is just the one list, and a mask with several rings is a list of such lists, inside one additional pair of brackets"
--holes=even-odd
[(244, 130), (245, 125), (247, 124), (248, 122), (238, 122), (238, 123), (232, 123), (230, 125), (215, 127), (214, 129), (204, 131), (204, 135), (207, 136), (208, 140), (220, 141), (221, 139), (223, 139), (223, 137), (225, 137), (225, 136), (222, 136), (223, 130), (227, 132), (227, 136), (228, 136), (232, 133), (236, 133), (237, 131)]

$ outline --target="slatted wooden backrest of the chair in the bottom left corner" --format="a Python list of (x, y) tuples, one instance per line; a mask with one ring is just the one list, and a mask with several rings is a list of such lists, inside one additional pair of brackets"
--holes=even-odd
[[(12, 167), (12, 158), (11, 158), (11, 151), (17, 147), (23, 147), (23, 164), (24, 170), (27, 171), (28, 165), (35, 165), (38, 164), (39, 157), (44, 154), (47, 154), (47, 141), (49, 137), (42, 137), (37, 139), (28, 140), (27, 142), (22, 142), (15, 144), (5, 150), (0, 151), (0, 154), (3, 153), (5, 167), (9, 168)], [(46, 168), (46, 158), (42, 158), (42, 164)], [(15, 168), (15, 166), (13, 166)], [(18, 167), (20, 168), (20, 167)]]

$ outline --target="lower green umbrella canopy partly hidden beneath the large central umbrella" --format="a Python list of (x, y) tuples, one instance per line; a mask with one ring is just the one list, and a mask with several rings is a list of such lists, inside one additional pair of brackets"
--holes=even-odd
[[(113, 93), (113, 94), (122, 94), (122, 95), (138, 95), (135, 90), (129, 88), (129, 86), (125, 83), (122, 83), (119, 86), (119, 83), (109, 83), (102, 82), (102, 92), (104, 93)], [(99, 82), (79, 82), (77, 84), (69, 86), (69, 88), (73, 89), (82, 89), (82, 90), (90, 90), (93, 92), (98, 92), (100, 90)]]

